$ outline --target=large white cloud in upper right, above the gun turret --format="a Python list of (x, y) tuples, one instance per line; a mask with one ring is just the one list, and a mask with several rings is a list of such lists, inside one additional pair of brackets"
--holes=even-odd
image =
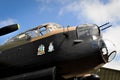
[(103, 24), (105, 22), (118, 22), (120, 20), (120, 0), (109, 0), (107, 3), (101, 0), (75, 0), (60, 10), (60, 15), (71, 12), (78, 20)]

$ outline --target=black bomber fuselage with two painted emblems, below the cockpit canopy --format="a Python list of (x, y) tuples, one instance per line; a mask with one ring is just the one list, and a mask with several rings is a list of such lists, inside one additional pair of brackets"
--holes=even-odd
[[(92, 33), (92, 27), (97, 32)], [(102, 52), (105, 43), (96, 25), (58, 28), (43, 34), (32, 38), (22, 33), (18, 37), (24, 38), (2, 45), (0, 77), (55, 66), (58, 74), (71, 78), (81, 76), (107, 62)]]

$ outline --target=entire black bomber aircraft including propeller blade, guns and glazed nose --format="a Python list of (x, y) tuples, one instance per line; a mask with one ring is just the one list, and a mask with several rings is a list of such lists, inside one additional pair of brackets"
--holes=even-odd
[[(89, 72), (116, 55), (102, 37), (107, 24), (46, 23), (14, 36), (0, 46), (0, 80), (99, 80)], [(0, 36), (18, 28), (0, 28)]]

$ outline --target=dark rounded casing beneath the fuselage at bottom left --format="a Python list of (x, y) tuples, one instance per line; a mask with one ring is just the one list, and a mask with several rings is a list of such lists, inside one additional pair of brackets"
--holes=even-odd
[(7, 78), (2, 78), (0, 80), (55, 80), (55, 67), (47, 68), (39, 71), (19, 74), (16, 76), (11, 76)]

